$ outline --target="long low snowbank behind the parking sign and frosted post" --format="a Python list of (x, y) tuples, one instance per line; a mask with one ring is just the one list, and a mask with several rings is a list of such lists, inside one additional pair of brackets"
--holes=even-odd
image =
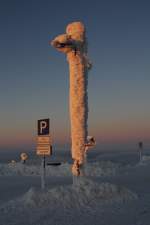
[[(119, 172), (120, 165), (111, 161), (87, 163), (85, 174), (87, 176), (112, 176)], [(4, 176), (39, 176), (40, 165), (27, 165), (22, 163), (0, 164), (0, 175)], [(60, 166), (46, 166), (46, 176), (72, 176), (71, 165), (62, 163)]]

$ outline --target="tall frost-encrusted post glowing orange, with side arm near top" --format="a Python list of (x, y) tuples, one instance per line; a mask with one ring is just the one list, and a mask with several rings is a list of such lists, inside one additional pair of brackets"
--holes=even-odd
[(88, 136), (88, 70), (91, 63), (87, 58), (87, 41), (85, 27), (81, 22), (70, 23), (66, 33), (57, 36), (52, 41), (58, 51), (67, 55), (70, 69), (70, 121), (72, 158), (74, 160), (72, 173), (82, 174), (85, 163), (85, 145)]

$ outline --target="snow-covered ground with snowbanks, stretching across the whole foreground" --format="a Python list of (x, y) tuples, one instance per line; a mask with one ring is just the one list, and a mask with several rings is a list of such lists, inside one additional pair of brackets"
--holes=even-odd
[[(91, 160), (92, 159), (92, 160)], [(105, 153), (89, 157), (86, 177), (73, 179), (70, 163), (0, 163), (0, 225), (149, 225), (150, 156)]]

